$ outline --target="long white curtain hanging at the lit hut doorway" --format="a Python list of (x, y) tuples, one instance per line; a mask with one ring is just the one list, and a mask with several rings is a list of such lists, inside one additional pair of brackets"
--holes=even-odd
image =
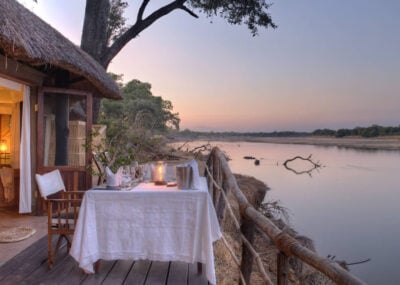
[(30, 145), (30, 89), (24, 86), (20, 145), (19, 212), (32, 212), (31, 145)]

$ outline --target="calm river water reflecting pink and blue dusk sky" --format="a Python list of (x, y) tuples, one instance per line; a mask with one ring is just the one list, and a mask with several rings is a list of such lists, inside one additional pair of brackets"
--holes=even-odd
[[(290, 211), (290, 224), (321, 256), (336, 256), (368, 284), (400, 284), (400, 152), (270, 143), (221, 143), (234, 173), (251, 175)], [(297, 175), (283, 163), (312, 155), (324, 167)], [(256, 166), (253, 160), (260, 159)], [(308, 169), (308, 162), (291, 165)]]

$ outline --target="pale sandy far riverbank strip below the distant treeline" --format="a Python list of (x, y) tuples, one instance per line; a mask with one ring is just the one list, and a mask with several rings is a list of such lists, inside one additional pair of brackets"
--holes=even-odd
[(277, 144), (303, 144), (318, 145), (327, 147), (353, 148), (364, 150), (400, 150), (400, 136), (381, 136), (375, 138), (363, 137), (252, 137), (252, 136), (224, 136), (224, 137), (196, 137), (196, 138), (176, 138), (177, 141), (196, 140), (196, 141), (227, 141), (227, 142), (259, 142)]

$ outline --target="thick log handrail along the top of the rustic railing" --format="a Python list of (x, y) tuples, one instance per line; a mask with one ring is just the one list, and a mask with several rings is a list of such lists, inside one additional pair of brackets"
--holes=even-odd
[[(223, 177), (226, 182), (226, 187), (229, 188), (229, 191), (233, 193), (237, 202), (239, 203), (240, 214), (244, 218), (252, 220), (256, 224), (258, 229), (260, 229), (273, 241), (274, 245), (280, 251), (280, 254), (284, 254), (287, 257), (289, 256), (297, 257), (301, 261), (305, 262), (306, 264), (314, 267), (324, 275), (328, 276), (332, 281), (338, 284), (348, 284), (348, 285), (366, 284), (356, 276), (352, 275), (350, 272), (340, 267), (338, 264), (336, 264), (336, 262), (329, 260), (328, 258), (323, 258), (318, 254), (316, 254), (315, 252), (311, 251), (310, 249), (304, 247), (301, 243), (299, 243), (289, 234), (280, 230), (271, 220), (265, 217), (261, 212), (256, 210), (248, 202), (247, 198), (239, 189), (236, 179), (234, 178), (224, 155), (217, 147), (213, 148), (209, 157), (209, 162), (215, 162), (215, 160), (219, 161), (220, 171), (223, 172)], [(211, 175), (213, 176), (213, 173), (211, 173)], [(216, 189), (214, 188), (214, 191), (215, 190)], [(221, 191), (221, 193), (223, 193), (223, 191)], [(224, 196), (224, 194), (222, 195)], [(285, 263), (286, 262), (283, 262), (283, 264)], [(285, 270), (284, 268), (282, 269), (281, 269), (282, 277), (284, 277)]]

